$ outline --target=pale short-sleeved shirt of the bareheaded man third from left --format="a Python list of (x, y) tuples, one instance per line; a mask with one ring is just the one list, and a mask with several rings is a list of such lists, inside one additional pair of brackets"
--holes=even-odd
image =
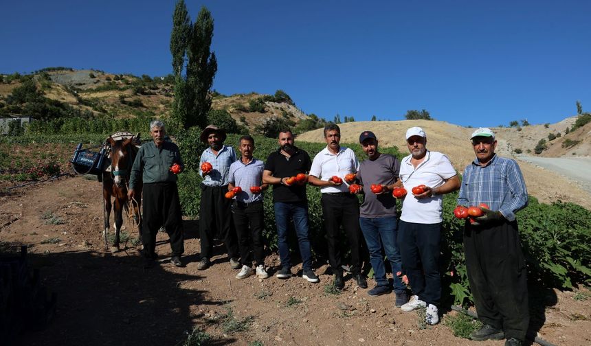
[(263, 185), (263, 161), (254, 157), (249, 163), (243, 163), (241, 159), (230, 165), (228, 182), (234, 186), (240, 186), (242, 192), (236, 195), (236, 200), (243, 203), (252, 203), (263, 200), (263, 194), (252, 194), (250, 187)]

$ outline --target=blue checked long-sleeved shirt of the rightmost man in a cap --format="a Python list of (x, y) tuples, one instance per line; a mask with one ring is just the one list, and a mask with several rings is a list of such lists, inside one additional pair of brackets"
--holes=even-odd
[(464, 170), (458, 204), (466, 207), (486, 203), (509, 220), (527, 205), (527, 189), (521, 170), (513, 159), (495, 154), (488, 165), (482, 167), (478, 159)]

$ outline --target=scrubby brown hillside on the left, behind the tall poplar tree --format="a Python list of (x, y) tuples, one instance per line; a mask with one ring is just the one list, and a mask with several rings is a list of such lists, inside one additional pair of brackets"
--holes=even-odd
[[(27, 109), (26, 104), (8, 104), (8, 97), (14, 89), (30, 79), (43, 97), (80, 111), (86, 117), (118, 119), (148, 116), (166, 119), (174, 97), (174, 78), (170, 75), (150, 78), (96, 70), (48, 69), (28, 76), (0, 77), (2, 117), (30, 115), (23, 111)], [(284, 117), (295, 124), (308, 117), (293, 102), (274, 102), (270, 95), (248, 93), (225, 96), (214, 92), (212, 96), (212, 108), (228, 111), (238, 125), (249, 130), (254, 130), (271, 117)], [(251, 111), (250, 102), (265, 96), (265, 100), (260, 100), (262, 106)]]

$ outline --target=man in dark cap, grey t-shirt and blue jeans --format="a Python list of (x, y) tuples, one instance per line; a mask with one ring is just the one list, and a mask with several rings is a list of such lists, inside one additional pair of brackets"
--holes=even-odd
[[(400, 163), (396, 157), (379, 152), (378, 140), (371, 131), (361, 132), (359, 143), (368, 155), (368, 159), (359, 165), (357, 173), (357, 180), (364, 189), (364, 201), (359, 208), (359, 226), (368, 246), (376, 281), (376, 286), (368, 291), (368, 295), (377, 297), (392, 290), (392, 286), (386, 279), (381, 250), (383, 246), (394, 273), (396, 306), (400, 308), (408, 301), (406, 286), (396, 275), (402, 270), (402, 258), (396, 240), (398, 222), (396, 199), (392, 196), (392, 189), (394, 183), (399, 180)], [(370, 184), (381, 185), (383, 192), (375, 194), (370, 189)]]

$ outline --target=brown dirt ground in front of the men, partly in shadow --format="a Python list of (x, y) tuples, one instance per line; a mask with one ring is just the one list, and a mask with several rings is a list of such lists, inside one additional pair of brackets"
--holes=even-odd
[[(170, 246), (166, 234), (159, 233), (159, 265), (144, 270), (131, 242), (119, 252), (104, 250), (100, 196), (100, 183), (83, 177), (0, 196), (2, 249), (27, 244), (30, 264), (41, 269), (43, 285), (58, 297), (52, 323), (41, 332), (27, 332), (22, 345), (179, 345), (194, 326), (213, 336), (213, 345), (502, 345), (455, 337), (443, 323), (421, 329), (416, 312), (394, 308), (394, 295), (368, 297), (352, 279), (340, 295), (327, 294), (326, 264), (314, 264), (319, 284), (301, 277), (238, 280), (217, 246), (214, 266), (198, 271), (194, 220), (184, 224), (186, 268), (168, 263)], [(64, 223), (47, 222), (49, 214)], [(59, 240), (41, 244), (52, 238)], [(273, 273), (277, 255), (268, 255), (265, 264)], [(293, 273), (297, 270), (301, 264)], [(531, 306), (531, 329), (544, 340), (590, 345), (588, 289), (532, 288)], [(236, 321), (251, 321), (249, 330), (227, 332), (221, 316), (230, 310)], [(441, 312), (442, 319), (455, 314)]]

